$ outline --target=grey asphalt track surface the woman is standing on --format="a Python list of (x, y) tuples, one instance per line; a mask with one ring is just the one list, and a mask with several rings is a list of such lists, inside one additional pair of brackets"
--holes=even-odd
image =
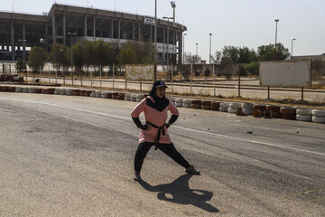
[(134, 107), (0, 92), (0, 216), (325, 216), (325, 125), (181, 108), (202, 175), (152, 148), (139, 184)]

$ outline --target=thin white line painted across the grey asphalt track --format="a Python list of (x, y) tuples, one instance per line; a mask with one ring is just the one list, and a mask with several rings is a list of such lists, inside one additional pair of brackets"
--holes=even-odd
[[(125, 119), (125, 120), (130, 120), (131, 119), (131, 118), (123, 117), (123, 116), (110, 115), (110, 114), (107, 114), (107, 113), (92, 111), (92, 110), (87, 110), (87, 109), (76, 109), (76, 108), (64, 107), (64, 106), (51, 104), (51, 103), (46, 103), (46, 102), (32, 101), (32, 100), (26, 100), (26, 99), (9, 99), (9, 98), (0, 98), (0, 99), (31, 102), (31, 103), (36, 103), (36, 104), (42, 104), (42, 105), (57, 107), (57, 108), (60, 108), (60, 109), (78, 110), (78, 111), (82, 111), (82, 112), (87, 112), (87, 113), (101, 115), (101, 116), (107, 116), (107, 117), (111, 117), (111, 118), (120, 118), (120, 119)], [(211, 135), (211, 136), (225, 137), (225, 138), (229, 138), (229, 139), (235, 139), (235, 140), (254, 143), (254, 144), (259, 144), (259, 145), (274, 146), (274, 147), (280, 147), (280, 148), (283, 148), (283, 149), (289, 149), (289, 150), (293, 150), (293, 151), (299, 151), (299, 152), (310, 153), (310, 154), (319, 155), (319, 156), (325, 156), (325, 153), (314, 152), (314, 151), (305, 150), (305, 149), (301, 149), (301, 148), (280, 146), (280, 145), (275, 145), (275, 144), (265, 143), (265, 142), (259, 142), (259, 141), (250, 140), (250, 139), (246, 139), (246, 138), (240, 138), (240, 137), (231, 137), (231, 136), (226, 136), (226, 135), (222, 135), (222, 134), (218, 134), (218, 133), (211, 133), (211, 132), (202, 131), (202, 130), (193, 129), (193, 128), (187, 128), (187, 127), (178, 127), (178, 126), (172, 126), (172, 127), (182, 129), (182, 130), (197, 132), (197, 133), (208, 134), (208, 135)]]

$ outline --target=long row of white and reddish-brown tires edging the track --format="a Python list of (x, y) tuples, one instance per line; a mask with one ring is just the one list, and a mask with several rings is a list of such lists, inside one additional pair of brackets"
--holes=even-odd
[[(23, 93), (42, 93), (42, 94), (60, 94), (85, 97), (98, 97), (103, 99), (119, 99), (126, 101), (140, 102), (148, 95), (118, 93), (101, 90), (77, 90), (77, 89), (53, 89), (53, 88), (36, 88), (36, 87), (13, 87), (0, 86), (0, 91), (5, 92), (23, 92)], [(275, 105), (259, 105), (252, 103), (238, 102), (218, 102), (200, 99), (182, 99), (169, 98), (177, 107), (191, 109), (210, 109), (221, 112), (237, 114), (238, 116), (253, 115), (254, 118), (285, 118), (309, 121), (315, 123), (325, 123), (325, 109), (297, 109), (296, 107), (280, 107)]]

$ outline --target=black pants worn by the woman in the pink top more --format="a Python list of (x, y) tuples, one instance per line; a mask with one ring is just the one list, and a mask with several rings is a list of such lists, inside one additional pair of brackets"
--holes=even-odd
[[(153, 143), (143, 142), (138, 145), (135, 153), (135, 171), (141, 171), (142, 165), (144, 164), (144, 157), (147, 155)], [(158, 148), (163, 151), (167, 156), (172, 157), (172, 159), (182, 165), (184, 168), (190, 167), (189, 162), (185, 160), (183, 156), (176, 150), (175, 146), (171, 144), (158, 144)]]

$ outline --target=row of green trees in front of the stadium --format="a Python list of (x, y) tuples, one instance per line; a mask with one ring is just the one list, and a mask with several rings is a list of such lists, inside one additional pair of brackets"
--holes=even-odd
[[(102, 67), (125, 64), (154, 63), (154, 46), (151, 42), (125, 42), (121, 49), (114, 48), (109, 42), (82, 41), (75, 43), (72, 48), (61, 43), (54, 43), (48, 54), (42, 47), (32, 47), (28, 61), (18, 59), (17, 71), (26, 71), (28, 65), (33, 72), (42, 71), (45, 61), (51, 61), (58, 71), (68, 71), (73, 66), (78, 73), (89, 67), (100, 71)], [(72, 60), (71, 60), (72, 58)]]

